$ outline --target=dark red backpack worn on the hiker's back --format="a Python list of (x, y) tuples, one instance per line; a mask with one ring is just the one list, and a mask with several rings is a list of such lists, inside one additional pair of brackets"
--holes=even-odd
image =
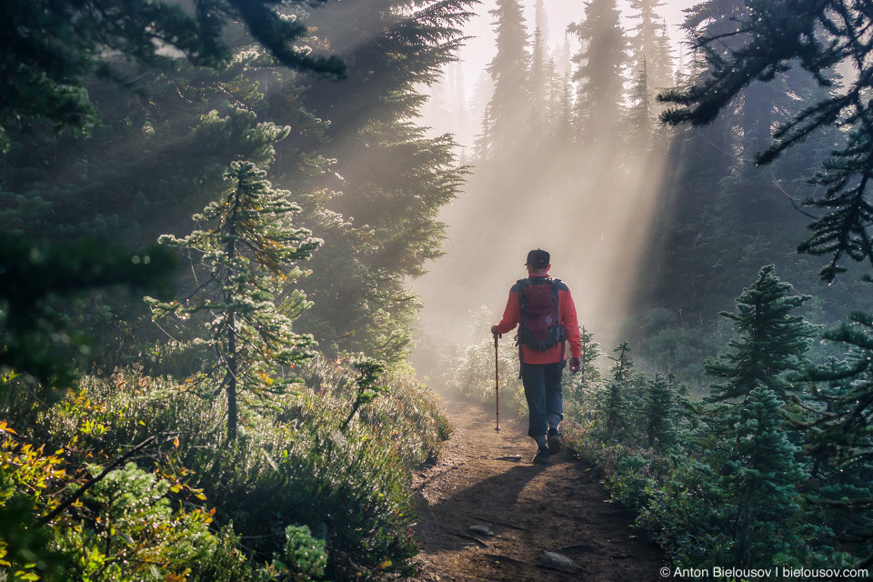
[(517, 282), (521, 307), (521, 325), (518, 326), (518, 346), (527, 346), (539, 352), (562, 344), (567, 331), (561, 325), (558, 290), (564, 287), (560, 279), (529, 277)]

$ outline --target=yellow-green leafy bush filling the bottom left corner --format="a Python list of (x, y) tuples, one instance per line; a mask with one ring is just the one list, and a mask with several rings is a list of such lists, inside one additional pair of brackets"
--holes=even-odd
[[(0, 428), (0, 433), (14, 434), (7, 426)], [(222, 543), (225, 536), (210, 531), (210, 513), (173, 507), (168, 494), (175, 486), (166, 479), (133, 463), (111, 471), (96, 464), (76, 470), (63, 451), (44, 455), (42, 447), (23, 440), (5, 439), (0, 445), (0, 577), (253, 579), (246, 558)], [(83, 495), (70, 497), (74, 491)], [(230, 562), (234, 567), (196, 575), (204, 564)]]

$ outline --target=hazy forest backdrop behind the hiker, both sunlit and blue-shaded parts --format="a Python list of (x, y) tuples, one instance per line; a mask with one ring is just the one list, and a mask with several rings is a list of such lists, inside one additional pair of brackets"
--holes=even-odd
[[(517, 257), (536, 247), (552, 253), (552, 275), (606, 345), (627, 339), (641, 365), (657, 359), (704, 389), (702, 362), (726, 341), (718, 313), (760, 266), (776, 265), (814, 296), (807, 315), (818, 324), (867, 308), (859, 277), (868, 269), (848, 260), (850, 272), (826, 282), (818, 271), (827, 259), (797, 252), (822, 214), (803, 203), (825, 193), (808, 180), (837, 146), (835, 130), (821, 128), (766, 166), (756, 158), (828, 87), (795, 64), (750, 85), (708, 125), (660, 119), (670, 104), (657, 95), (710, 67), (704, 50), (688, 50), (695, 27), (721, 30), (742, 3), (719, 5), (724, 16), (690, 10), (684, 45), (671, 44), (662, 2), (580, 5), (567, 31), (549, 26), (547, 3), (532, 6), (525, 21), (523, 3), (497, 3), (487, 71), (469, 79), (449, 65), (424, 110), (428, 124), (466, 136), (463, 161), (476, 171), (443, 209), (447, 256), (415, 286), (422, 365), (433, 342), (463, 346), (485, 333), (469, 335), (471, 314), (486, 307), (497, 320), (524, 276)], [(844, 70), (828, 75), (839, 85)]]

